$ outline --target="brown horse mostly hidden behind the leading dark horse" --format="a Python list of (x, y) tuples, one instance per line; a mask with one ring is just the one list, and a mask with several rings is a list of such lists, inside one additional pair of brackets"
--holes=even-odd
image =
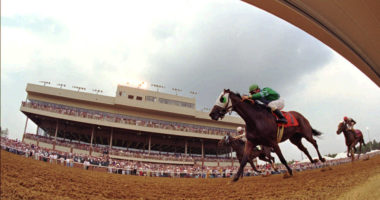
[[(236, 152), (236, 157), (241, 163), (245, 147), (245, 142), (242, 139), (236, 139), (227, 134), (218, 142), (218, 145), (227, 145), (232, 147), (232, 149)], [(255, 170), (256, 172), (260, 172), (256, 169), (255, 165), (253, 164), (253, 160), (258, 157), (262, 161), (269, 162), (272, 165), (273, 169), (277, 171), (277, 168), (274, 166), (274, 158), (270, 155), (271, 150), (272, 148), (267, 146), (261, 146), (261, 149), (257, 147), (252, 149), (248, 156), (248, 162), (253, 170)]]

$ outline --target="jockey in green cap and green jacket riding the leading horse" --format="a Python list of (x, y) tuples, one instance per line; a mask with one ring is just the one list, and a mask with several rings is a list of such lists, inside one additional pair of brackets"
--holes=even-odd
[(260, 90), (257, 84), (253, 84), (249, 87), (249, 93), (249, 96), (243, 96), (242, 99), (253, 99), (261, 101), (270, 107), (272, 112), (279, 118), (277, 120), (277, 123), (288, 123), (280, 111), (284, 108), (284, 100), (280, 98), (280, 95), (276, 91), (268, 87)]

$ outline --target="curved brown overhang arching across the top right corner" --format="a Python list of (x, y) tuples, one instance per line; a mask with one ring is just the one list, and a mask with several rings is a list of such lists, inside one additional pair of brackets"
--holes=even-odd
[(379, 1), (243, 1), (316, 37), (380, 86)]

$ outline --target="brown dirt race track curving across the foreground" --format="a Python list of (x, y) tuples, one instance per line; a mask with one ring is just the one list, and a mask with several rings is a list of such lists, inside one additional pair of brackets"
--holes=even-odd
[(1, 151), (1, 199), (380, 199), (380, 156), (326, 170), (230, 179), (86, 171)]

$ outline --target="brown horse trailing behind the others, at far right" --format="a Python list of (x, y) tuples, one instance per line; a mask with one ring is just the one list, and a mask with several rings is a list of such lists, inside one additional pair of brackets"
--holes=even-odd
[(336, 131), (336, 134), (338, 135), (343, 132), (344, 138), (346, 139), (347, 157), (351, 156), (352, 161), (354, 161), (355, 159), (354, 152), (356, 151), (356, 144), (360, 144), (358, 159), (360, 156), (360, 152), (362, 151), (362, 144), (365, 146), (362, 132), (358, 129), (356, 129), (356, 131), (359, 132), (358, 136), (356, 136), (356, 133), (353, 130), (347, 128), (346, 122), (339, 123), (338, 130)]

